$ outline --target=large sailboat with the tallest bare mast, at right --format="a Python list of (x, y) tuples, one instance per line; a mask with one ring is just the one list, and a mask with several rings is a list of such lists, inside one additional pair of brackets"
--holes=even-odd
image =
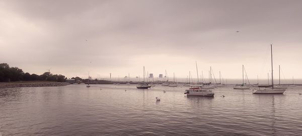
[(274, 75), (273, 74), (273, 49), (272, 49), (272, 44), (271, 44), (271, 64), (272, 64), (272, 88), (265, 88), (265, 89), (261, 90), (260, 87), (259, 87), (259, 89), (256, 90), (255, 92), (253, 90), (253, 94), (283, 94), (286, 91), (286, 89), (276, 89), (274, 87), (274, 78), (273, 78), (273, 75)]

